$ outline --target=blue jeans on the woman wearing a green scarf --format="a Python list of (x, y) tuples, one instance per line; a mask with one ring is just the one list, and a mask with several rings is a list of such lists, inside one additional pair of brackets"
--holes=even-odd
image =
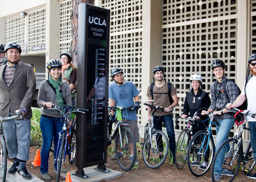
[(40, 172), (42, 174), (48, 173), (48, 160), (49, 160), (50, 149), (52, 146), (52, 141), (54, 144), (54, 149), (53, 149), (54, 168), (55, 170), (57, 170), (57, 160), (55, 160), (55, 158), (56, 158), (56, 153), (59, 152), (59, 150), (56, 151), (57, 145), (58, 145), (58, 139), (59, 139), (58, 132), (62, 130), (62, 127), (63, 127), (63, 123), (61, 122), (61, 118), (50, 118), (50, 117), (45, 117), (41, 115), (40, 129), (42, 132), (43, 145), (41, 149)]

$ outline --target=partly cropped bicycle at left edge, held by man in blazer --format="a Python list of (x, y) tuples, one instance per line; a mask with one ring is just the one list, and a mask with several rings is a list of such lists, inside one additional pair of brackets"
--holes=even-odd
[[(20, 117), (22, 118), (22, 112), (21, 110), (16, 110), (14, 116), (11, 117), (1, 117), (0, 116), (0, 130), (2, 130), (2, 122)], [(3, 176), (3, 181), (6, 180), (6, 172), (7, 172), (7, 148), (6, 148), (6, 143), (5, 143), (5, 137), (3, 133), (0, 133), (0, 143), (1, 143), (1, 148), (0, 148), (0, 175)]]

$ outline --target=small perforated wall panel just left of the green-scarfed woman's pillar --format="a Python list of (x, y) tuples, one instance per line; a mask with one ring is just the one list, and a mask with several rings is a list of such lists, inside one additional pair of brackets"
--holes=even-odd
[(29, 11), (27, 18), (27, 52), (45, 52), (45, 48), (41, 50), (36, 50), (35, 48), (38, 46), (46, 46), (46, 8)]

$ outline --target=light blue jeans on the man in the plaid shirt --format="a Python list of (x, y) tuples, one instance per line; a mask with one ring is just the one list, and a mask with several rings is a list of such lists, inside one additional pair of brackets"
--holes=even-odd
[[(231, 128), (234, 125), (234, 119), (233, 118), (227, 118), (219, 121), (220, 126), (217, 126), (216, 132), (217, 132), (217, 138), (216, 138), (216, 152), (220, 148), (220, 145), (226, 141), (229, 137), (229, 133)], [(224, 155), (227, 151), (229, 151), (230, 146), (226, 145), (224, 149), (221, 149), (216, 162), (215, 162), (215, 168), (214, 173), (220, 174), (222, 172), (222, 162), (224, 159)]]

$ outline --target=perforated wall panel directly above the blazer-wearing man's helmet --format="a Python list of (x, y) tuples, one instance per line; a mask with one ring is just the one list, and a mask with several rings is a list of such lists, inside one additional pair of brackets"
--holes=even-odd
[(5, 42), (16, 41), (20, 44), (22, 54), (25, 52), (25, 19), (23, 16), (14, 16), (5, 19)]

